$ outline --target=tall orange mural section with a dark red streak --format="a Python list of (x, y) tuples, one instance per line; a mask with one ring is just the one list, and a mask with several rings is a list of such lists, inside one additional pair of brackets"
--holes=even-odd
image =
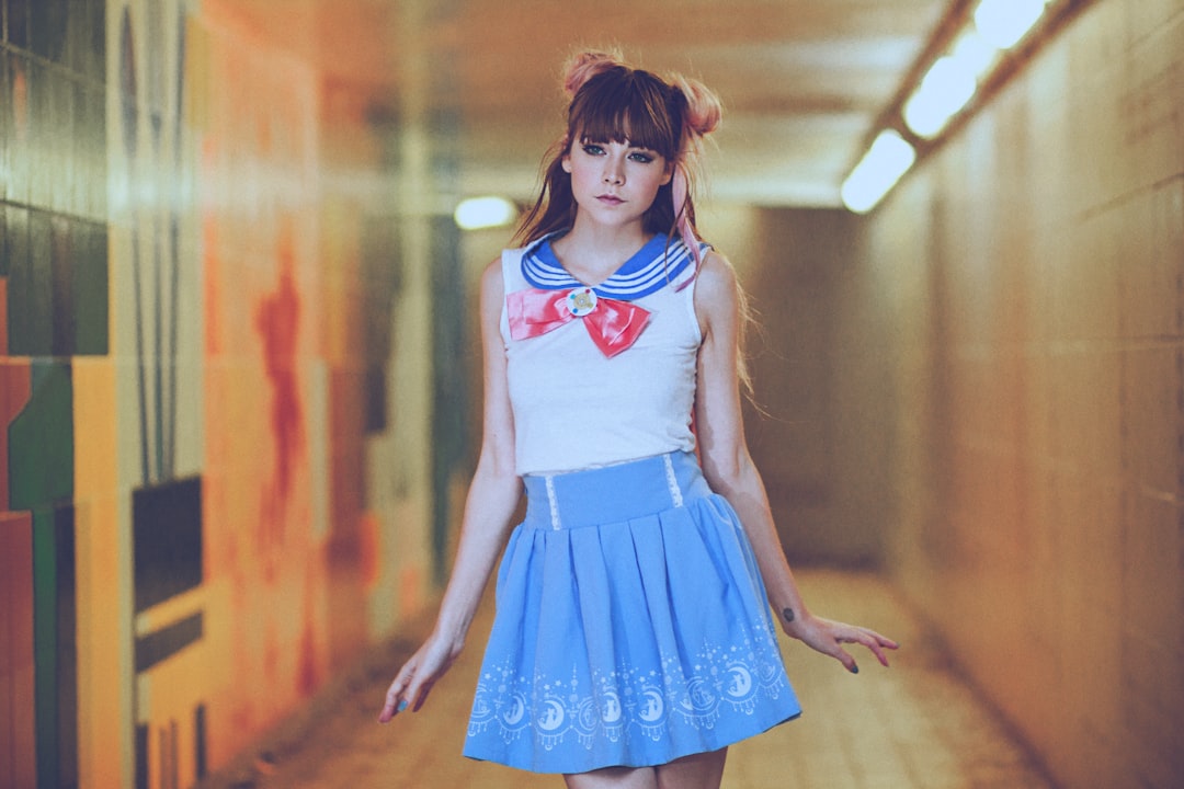
[(314, 431), (324, 429), (329, 389), (315, 75), (253, 39), (244, 46), (232, 18), (206, 24), (194, 67), (211, 90), (194, 125), (208, 322), (206, 583), (219, 622), (211, 640), (231, 659), (207, 688), (208, 746), (221, 761), (242, 745), (236, 731), (276, 722), (328, 668), (329, 524), (318, 505), (328, 459)]

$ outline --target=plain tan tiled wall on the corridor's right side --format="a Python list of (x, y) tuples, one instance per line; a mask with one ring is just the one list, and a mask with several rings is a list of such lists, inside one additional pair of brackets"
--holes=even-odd
[(1092, 4), (869, 233), (886, 567), (1062, 785), (1184, 785), (1184, 2)]

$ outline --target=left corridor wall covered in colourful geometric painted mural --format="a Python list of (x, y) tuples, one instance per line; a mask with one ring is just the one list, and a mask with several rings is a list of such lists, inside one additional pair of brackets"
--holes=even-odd
[(427, 600), (464, 297), (400, 336), (398, 222), (324, 179), (341, 124), (387, 174), (394, 132), (328, 130), (348, 88), (232, 0), (0, 33), (0, 788), (192, 785)]

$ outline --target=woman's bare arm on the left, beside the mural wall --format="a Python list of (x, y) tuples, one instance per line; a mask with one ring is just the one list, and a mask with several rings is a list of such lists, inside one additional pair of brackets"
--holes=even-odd
[(422, 707), (432, 685), (461, 654), (481, 594), (494, 571), (510, 518), (522, 494), (522, 480), (514, 471), (514, 416), (500, 329), (503, 299), (501, 261), (495, 260), (481, 278), (484, 421), (481, 455), (469, 485), (456, 560), (440, 601), (436, 627), (391, 683), (379, 714), (381, 723), (388, 722), (407, 705), (412, 710)]

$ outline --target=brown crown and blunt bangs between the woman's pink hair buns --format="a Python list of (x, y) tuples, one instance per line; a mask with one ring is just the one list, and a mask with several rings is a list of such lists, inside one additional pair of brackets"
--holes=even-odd
[(590, 142), (628, 141), (673, 160), (682, 119), (674, 117), (667, 93), (664, 84), (646, 71), (612, 69), (580, 89), (571, 105), (568, 130)]

